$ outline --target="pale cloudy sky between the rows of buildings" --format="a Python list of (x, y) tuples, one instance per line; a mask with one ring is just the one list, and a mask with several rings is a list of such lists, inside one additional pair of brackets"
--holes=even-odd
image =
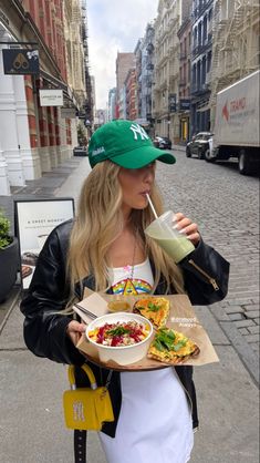
[(96, 109), (105, 109), (116, 85), (118, 52), (134, 52), (147, 22), (157, 16), (158, 0), (86, 0), (90, 72), (95, 78)]

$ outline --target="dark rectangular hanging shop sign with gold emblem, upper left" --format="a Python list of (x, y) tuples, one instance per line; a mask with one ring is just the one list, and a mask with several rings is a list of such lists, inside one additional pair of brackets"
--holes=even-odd
[(2, 50), (4, 74), (39, 74), (39, 51), (22, 49)]

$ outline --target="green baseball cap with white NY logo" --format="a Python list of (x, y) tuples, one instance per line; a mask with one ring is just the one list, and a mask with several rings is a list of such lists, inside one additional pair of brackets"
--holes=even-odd
[(174, 164), (171, 153), (156, 148), (145, 130), (134, 121), (116, 120), (97, 128), (89, 144), (91, 167), (110, 160), (121, 167), (141, 168), (155, 160)]

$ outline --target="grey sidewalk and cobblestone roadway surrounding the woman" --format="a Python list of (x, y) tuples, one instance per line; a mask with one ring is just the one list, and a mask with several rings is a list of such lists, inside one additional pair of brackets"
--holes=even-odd
[[(259, 178), (241, 176), (236, 163), (208, 164), (187, 158), (181, 147), (173, 151), (176, 165), (157, 163), (166, 208), (197, 222), (205, 241), (231, 264), (227, 298), (196, 307), (219, 363), (195, 369), (200, 431), (195, 434), (190, 463), (258, 463)], [(31, 182), (30, 188), (15, 194), (76, 199), (89, 172), (87, 158), (72, 158), (56, 169), (56, 176), (55, 171), (46, 174), (38, 188)], [(48, 182), (53, 186), (49, 193)], [(11, 199), (0, 197), (0, 206), (10, 212)], [(69, 389), (65, 368), (27, 350), (15, 296), (0, 305), (3, 310), (0, 463), (72, 463), (73, 436), (62, 415), (62, 393)], [(90, 433), (87, 452), (87, 463), (105, 463), (95, 433)]]

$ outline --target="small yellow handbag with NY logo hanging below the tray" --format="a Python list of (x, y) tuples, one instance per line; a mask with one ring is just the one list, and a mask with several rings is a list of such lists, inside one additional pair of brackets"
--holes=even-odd
[(106, 385), (97, 387), (92, 369), (87, 364), (83, 364), (81, 368), (89, 377), (91, 387), (76, 389), (74, 367), (69, 367), (71, 390), (63, 393), (65, 424), (72, 430), (100, 431), (104, 421), (114, 421), (107, 390), (112, 371)]

